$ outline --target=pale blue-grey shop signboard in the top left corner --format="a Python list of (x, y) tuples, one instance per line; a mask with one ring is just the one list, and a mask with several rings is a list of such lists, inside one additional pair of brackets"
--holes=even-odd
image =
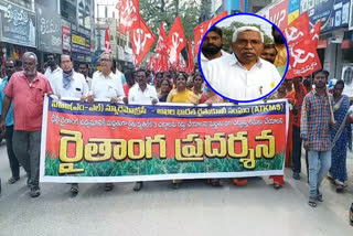
[(7, 1), (0, 1), (0, 41), (36, 47), (35, 14)]

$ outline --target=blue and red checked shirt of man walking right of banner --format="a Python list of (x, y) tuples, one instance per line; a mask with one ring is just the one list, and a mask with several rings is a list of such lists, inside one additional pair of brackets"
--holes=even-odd
[(302, 103), (300, 132), (301, 138), (309, 141), (310, 151), (331, 150), (330, 140), (330, 103), (333, 97), (330, 94), (321, 97), (315, 90), (311, 90)]

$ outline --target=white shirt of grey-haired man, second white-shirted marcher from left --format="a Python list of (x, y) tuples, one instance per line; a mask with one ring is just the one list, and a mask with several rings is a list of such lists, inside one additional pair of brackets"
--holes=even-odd
[(103, 73), (97, 73), (92, 79), (90, 93), (95, 98), (124, 98), (121, 79), (113, 72), (106, 77)]

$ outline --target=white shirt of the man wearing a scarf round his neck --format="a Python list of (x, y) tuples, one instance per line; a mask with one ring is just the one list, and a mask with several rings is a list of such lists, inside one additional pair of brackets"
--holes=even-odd
[[(57, 73), (58, 74), (58, 73)], [(73, 81), (68, 88), (64, 88), (63, 83), (63, 71), (60, 72), (61, 77), (55, 78), (51, 82), (51, 86), (54, 95), (63, 97), (76, 97), (81, 98), (82, 96), (88, 95), (88, 85), (86, 83), (85, 76), (81, 73), (73, 72)]]

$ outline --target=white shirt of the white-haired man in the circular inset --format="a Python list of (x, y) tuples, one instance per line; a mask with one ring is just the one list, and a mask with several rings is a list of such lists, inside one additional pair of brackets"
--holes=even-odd
[(269, 94), (281, 81), (271, 63), (258, 58), (248, 71), (234, 54), (208, 62), (204, 76), (221, 95), (243, 101)]

